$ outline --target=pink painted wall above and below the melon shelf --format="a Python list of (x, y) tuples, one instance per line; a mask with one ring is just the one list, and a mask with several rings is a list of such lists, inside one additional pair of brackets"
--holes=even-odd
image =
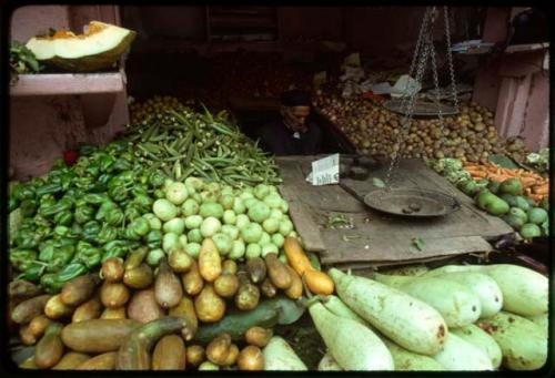
[[(118, 20), (110, 6), (19, 8), (11, 19), (10, 37), (21, 42), (48, 28), (80, 32), (95, 19)], [(85, 142), (101, 144), (129, 121), (125, 90), (83, 95), (30, 95), (10, 98), (10, 165), (16, 180), (42, 175), (53, 157)]]

